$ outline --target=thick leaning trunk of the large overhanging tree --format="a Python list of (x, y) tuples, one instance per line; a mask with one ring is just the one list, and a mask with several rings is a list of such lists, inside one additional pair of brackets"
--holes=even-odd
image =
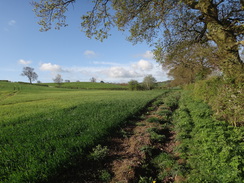
[(208, 39), (218, 46), (220, 67), (224, 75), (227, 78), (235, 78), (244, 73), (244, 63), (238, 52), (237, 37), (234, 30), (231, 30), (231, 23), (221, 22), (218, 19), (218, 9), (211, 0), (200, 0), (198, 3), (188, 1), (187, 3), (202, 12), (204, 23), (207, 25)]

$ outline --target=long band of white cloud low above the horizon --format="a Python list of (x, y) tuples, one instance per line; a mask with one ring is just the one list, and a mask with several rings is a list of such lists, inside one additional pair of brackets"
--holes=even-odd
[[(98, 65), (96, 65), (98, 64)], [(40, 70), (51, 71), (52, 78), (57, 72), (62, 72), (62, 78), (71, 81), (89, 81), (91, 77), (105, 82), (128, 82), (136, 79), (141, 82), (143, 78), (152, 74), (157, 81), (166, 80), (166, 73), (162, 71), (155, 61), (139, 60), (135, 63), (119, 64), (114, 62), (92, 62), (91, 66), (61, 67), (52, 63), (42, 63)]]

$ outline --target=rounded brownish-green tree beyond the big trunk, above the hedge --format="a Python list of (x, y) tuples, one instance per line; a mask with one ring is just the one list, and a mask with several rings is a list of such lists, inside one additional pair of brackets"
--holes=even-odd
[(209, 44), (178, 44), (162, 60), (163, 68), (174, 80), (171, 85), (182, 85), (205, 79), (213, 70), (218, 69), (217, 49)]

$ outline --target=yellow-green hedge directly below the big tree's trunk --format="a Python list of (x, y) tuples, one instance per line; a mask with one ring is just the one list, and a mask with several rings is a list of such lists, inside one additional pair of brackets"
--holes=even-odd
[(212, 77), (197, 82), (192, 91), (196, 99), (207, 102), (220, 120), (240, 126), (244, 124), (244, 87), (238, 83), (226, 82), (223, 78)]

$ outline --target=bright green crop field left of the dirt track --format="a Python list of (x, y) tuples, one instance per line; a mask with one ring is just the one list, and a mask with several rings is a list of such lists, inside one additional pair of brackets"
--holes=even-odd
[(0, 182), (47, 179), (162, 93), (0, 82)]

